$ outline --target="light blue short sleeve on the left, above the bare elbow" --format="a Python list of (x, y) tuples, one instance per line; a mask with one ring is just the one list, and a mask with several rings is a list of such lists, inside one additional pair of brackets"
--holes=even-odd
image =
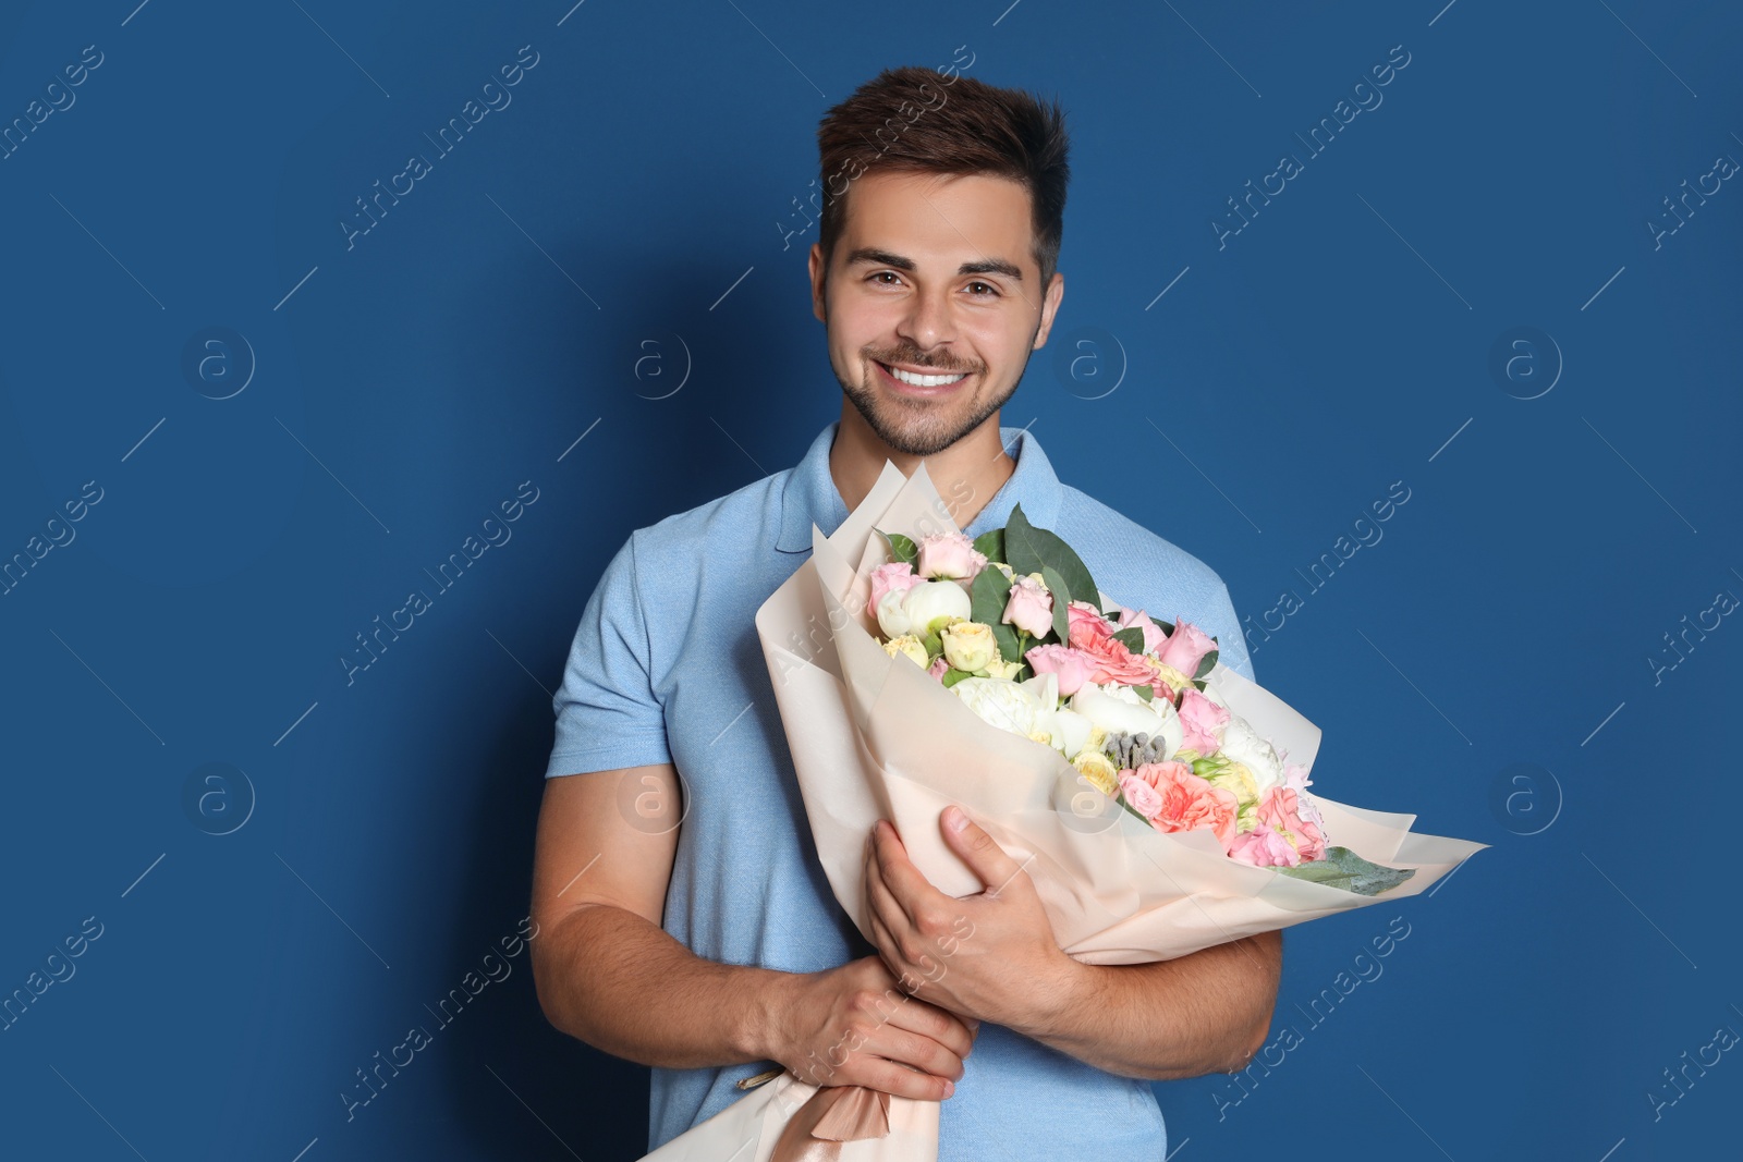
[(652, 641), (636, 585), (634, 535), (580, 613), (553, 699), (556, 742), (546, 779), (669, 763), (666, 713), (654, 692)]

